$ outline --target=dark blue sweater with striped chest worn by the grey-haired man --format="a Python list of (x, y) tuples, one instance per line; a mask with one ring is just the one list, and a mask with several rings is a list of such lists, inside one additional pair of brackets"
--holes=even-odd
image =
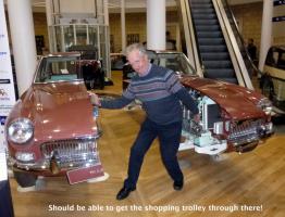
[(101, 107), (122, 108), (134, 99), (141, 101), (148, 118), (160, 125), (182, 120), (181, 101), (193, 114), (198, 113), (195, 101), (173, 71), (157, 65), (151, 65), (144, 77), (135, 75), (121, 98), (103, 100)]

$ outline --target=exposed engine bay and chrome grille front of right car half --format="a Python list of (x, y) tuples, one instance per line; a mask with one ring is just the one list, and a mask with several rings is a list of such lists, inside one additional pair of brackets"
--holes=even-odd
[(195, 123), (190, 111), (183, 105), (184, 141), (179, 151), (194, 149), (197, 153), (216, 155), (225, 152), (228, 144), (232, 144), (235, 151), (246, 152), (255, 149), (260, 138), (272, 133), (272, 124), (268, 126), (262, 119), (230, 120), (212, 99), (197, 90), (189, 92), (198, 103), (200, 122)]

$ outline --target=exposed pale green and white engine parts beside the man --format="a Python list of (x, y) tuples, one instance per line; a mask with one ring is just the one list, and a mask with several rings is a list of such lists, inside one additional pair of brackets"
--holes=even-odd
[(190, 94), (198, 102), (200, 123), (191, 120), (190, 111), (183, 106), (183, 132), (185, 141), (181, 143), (179, 151), (195, 149), (198, 153), (214, 155), (226, 150), (226, 140), (213, 137), (223, 132), (223, 123), (219, 105), (206, 95), (201, 95), (196, 90), (190, 90)]

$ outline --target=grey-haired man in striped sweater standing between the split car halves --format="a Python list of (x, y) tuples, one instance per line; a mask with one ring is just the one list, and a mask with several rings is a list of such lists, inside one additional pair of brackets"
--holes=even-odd
[(182, 190), (184, 180), (176, 156), (182, 132), (181, 101), (195, 115), (196, 122), (199, 120), (197, 105), (173, 71), (149, 63), (142, 44), (128, 46), (126, 56), (137, 74), (122, 97), (100, 101), (96, 94), (91, 95), (92, 103), (104, 108), (122, 108), (138, 99), (147, 114), (131, 149), (127, 178), (116, 199), (123, 200), (136, 190), (144, 156), (157, 137), (160, 141), (162, 162), (174, 181), (173, 188)]

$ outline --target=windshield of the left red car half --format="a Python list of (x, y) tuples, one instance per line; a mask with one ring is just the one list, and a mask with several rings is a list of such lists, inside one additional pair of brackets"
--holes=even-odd
[(79, 56), (47, 56), (40, 62), (35, 82), (72, 81), (82, 78)]

